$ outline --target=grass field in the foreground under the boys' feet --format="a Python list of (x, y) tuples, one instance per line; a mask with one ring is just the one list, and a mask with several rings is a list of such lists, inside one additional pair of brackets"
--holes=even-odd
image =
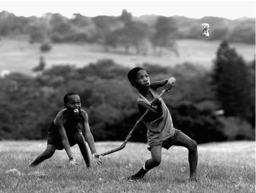
[[(96, 142), (98, 153), (122, 142)], [(198, 182), (189, 182), (187, 149), (162, 151), (162, 163), (138, 182), (128, 182), (150, 158), (144, 143), (127, 143), (102, 164), (86, 168), (77, 145), (72, 152), (80, 165), (70, 168), (65, 151), (29, 168), (28, 163), (46, 147), (46, 141), (0, 141), (0, 192), (255, 192), (255, 141), (198, 145)], [(6, 173), (17, 169), (22, 175)], [(29, 175), (30, 174), (30, 175)], [(209, 174), (207, 177), (206, 175)]]

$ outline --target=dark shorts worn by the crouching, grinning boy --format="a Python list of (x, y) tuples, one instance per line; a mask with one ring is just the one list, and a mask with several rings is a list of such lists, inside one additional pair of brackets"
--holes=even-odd
[[(78, 132), (82, 133), (81, 125), (78, 123), (74, 128), (69, 128), (69, 129), (70, 129), (70, 132), (66, 131), (66, 134), (67, 134), (70, 146), (74, 146), (76, 144), (74, 135)], [(58, 127), (54, 125), (53, 122), (48, 128), (47, 144), (54, 145), (55, 148), (58, 150), (62, 150), (64, 148), (61, 142), (61, 137), (59, 134)]]

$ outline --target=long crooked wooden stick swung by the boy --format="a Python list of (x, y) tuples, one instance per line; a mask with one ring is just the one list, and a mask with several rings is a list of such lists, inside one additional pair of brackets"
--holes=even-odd
[[(174, 84), (174, 82), (172, 83)], [(164, 94), (166, 90), (164, 89), (161, 94), (157, 97), (158, 99), (161, 98), (161, 96)], [(126, 137), (125, 141), (123, 142), (123, 144), (120, 145), (120, 147), (112, 149), (108, 152), (102, 153), (100, 154), (100, 156), (106, 156), (109, 154), (112, 154), (114, 152), (120, 151), (121, 149), (123, 149), (127, 143), (127, 141), (131, 138), (132, 133), (134, 132), (135, 128), (138, 126), (138, 124), (140, 123), (140, 121), (146, 116), (146, 114), (148, 113), (148, 111), (150, 111), (150, 108), (152, 107), (152, 102), (150, 104), (150, 106), (147, 108), (147, 110), (145, 111), (145, 113), (140, 117), (140, 119), (136, 122), (136, 124), (134, 125), (134, 127), (132, 128), (132, 130), (130, 131), (129, 135)]]

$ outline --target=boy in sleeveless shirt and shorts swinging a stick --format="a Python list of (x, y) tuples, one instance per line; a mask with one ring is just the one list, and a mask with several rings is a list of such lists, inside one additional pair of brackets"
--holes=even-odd
[(164, 87), (168, 92), (176, 79), (171, 77), (150, 83), (150, 77), (146, 71), (139, 67), (133, 68), (127, 76), (132, 86), (139, 91), (137, 105), (140, 115), (144, 114), (148, 106), (150, 106), (150, 101), (153, 104), (151, 110), (143, 119), (147, 127), (147, 143), (150, 146), (148, 150), (151, 151), (152, 157), (145, 162), (138, 173), (129, 177), (128, 180), (142, 179), (147, 171), (161, 163), (162, 147), (168, 149), (173, 145), (184, 146), (188, 149), (189, 179), (191, 181), (196, 180), (198, 161), (197, 143), (174, 128), (167, 106), (161, 98), (157, 98), (159, 96), (157, 89)]

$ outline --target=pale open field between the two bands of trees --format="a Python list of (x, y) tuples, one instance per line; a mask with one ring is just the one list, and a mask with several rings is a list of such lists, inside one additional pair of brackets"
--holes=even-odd
[[(31, 70), (38, 65), (40, 56), (45, 57), (47, 67), (59, 64), (82, 67), (99, 59), (111, 58), (116, 63), (131, 68), (144, 62), (175, 66), (185, 61), (210, 68), (220, 45), (220, 41), (209, 41), (207, 38), (178, 40), (177, 42), (180, 57), (176, 57), (174, 52), (167, 50), (164, 51), (162, 57), (156, 57), (152, 53), (147, 56), (136, 55), (133, 50), (131, 54), (125, 55), (122, 47), (104, 52), (104, 48), (100, 45), (68, 43), (53, 44), (49, 53), (41, 53), (40, 44), (29, 44), (27, 38), (2, 37), (0, 40), (0, 72), (9, 70), (31, 74)], [(236, 48), (237, 53), (242, 55), (246, 61), (254, 58), (255, 45), (230, 44), (230, 47)]]

